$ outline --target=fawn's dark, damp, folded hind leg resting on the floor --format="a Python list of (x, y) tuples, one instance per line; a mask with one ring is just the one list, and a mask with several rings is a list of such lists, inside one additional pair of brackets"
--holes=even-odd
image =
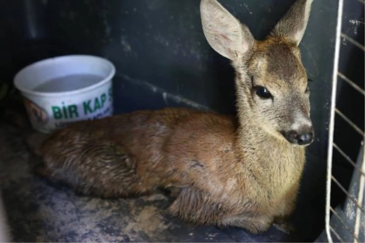
[(72, 144), (43, 152), (43, 165), (35, 172), (51, 181), (64, 183), (78, 193), (122, 197), (151, 191), (136, 172), (136, 161), (123, 148), (110, 142)]

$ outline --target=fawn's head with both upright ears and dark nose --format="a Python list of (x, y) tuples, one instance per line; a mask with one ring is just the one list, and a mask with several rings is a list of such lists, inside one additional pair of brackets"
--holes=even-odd
[(296, 145), (308, 145), (314, 137), (298, 48), (312, 1), (297, 0), (264, 41), (255, 40), (218, 1), (201, 0), (200, 5), (205, 38), (235, 68), (241, 122)]

